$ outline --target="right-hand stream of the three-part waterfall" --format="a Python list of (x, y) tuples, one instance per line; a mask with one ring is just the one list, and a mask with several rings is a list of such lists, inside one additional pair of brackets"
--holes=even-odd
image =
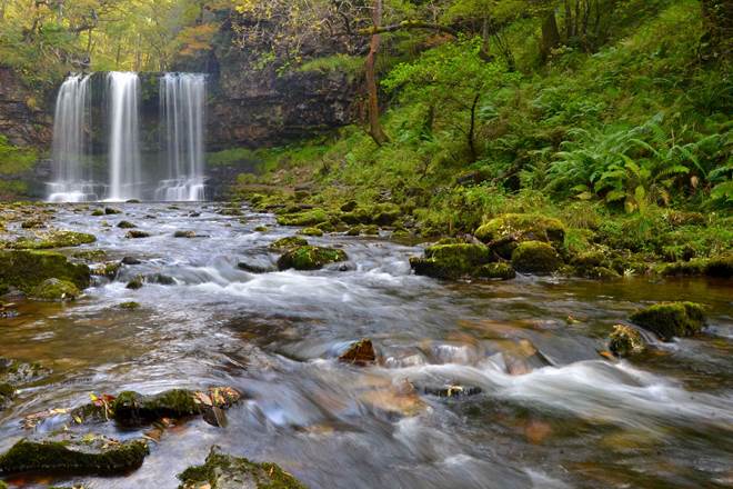
[(158, 200), (203, 200), (203, 120), (207, 80), (200, 73), (165, 73), (160, 79), (161, 146), (167, 179)]

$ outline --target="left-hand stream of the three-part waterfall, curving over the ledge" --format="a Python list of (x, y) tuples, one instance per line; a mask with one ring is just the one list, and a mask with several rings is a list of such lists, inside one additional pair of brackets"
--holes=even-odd
[(53, 173), (49, 183), (52, 202), (96, 200), (91, 182), (90, 76), (72, 74), (59, 89), (53, 118)]

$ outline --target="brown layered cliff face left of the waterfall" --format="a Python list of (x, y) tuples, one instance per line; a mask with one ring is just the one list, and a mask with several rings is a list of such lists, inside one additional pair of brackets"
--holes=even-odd
[(53, 138), (53, 106), (0, 66), (0, 134), (16, 146), (47, 148)]

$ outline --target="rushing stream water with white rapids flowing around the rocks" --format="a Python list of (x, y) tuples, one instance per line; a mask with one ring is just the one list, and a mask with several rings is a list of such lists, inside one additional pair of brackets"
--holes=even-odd
[[(245, 401), (228, 411), (227, 428), (189, 420), (167, 430), (127, 477), (24, 477), (11, 487), (174, 488), (212, 445), (278, 462), (313, 488), (733, 487), (730, 281), (445, 283), (410, 273), (419, 247), (341, 236), (309, 240), (342, 247), (345, 271), (252, 275), (237, 263), (273, 266), (267, 246), (293, 233), (271, 216), (225, 217), (215, 204), (124, 204), (99, 218), (83, 209), (58, 207), (56, 224), (98, 237), (81, 249), (142, 263), (74, 303), (24, 302), (0, 319), (0, 356), (53, 369), (0, 412), (0, 450), (28, 435), (23, 416), (88, 402), (90, 392), (228, 385)], [(125, 239), (121, 220), (153, 237)], [(271, 230), (253, 231), (263, 224)], [(125, 289), (138, 273), (175, 283)], [(129, 300), (142, 307), (117, 308)], [(706, 305), (707, 333), (634, 361), (599, 355), (613, 325), (662, 300)], [(335, 361), (362, 337), (379, 366)], [(424, 393), (445, 385), (481, 393)]]

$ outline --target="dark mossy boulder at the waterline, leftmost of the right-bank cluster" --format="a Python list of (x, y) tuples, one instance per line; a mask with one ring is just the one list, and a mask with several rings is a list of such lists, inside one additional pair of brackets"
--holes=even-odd
[(439, 279), (459, 279), (492, 261), (492, 253), (483, 244), (436, 244), (425, 249), (423, 258), (413, 257), (410, 266), (416, 275)]

